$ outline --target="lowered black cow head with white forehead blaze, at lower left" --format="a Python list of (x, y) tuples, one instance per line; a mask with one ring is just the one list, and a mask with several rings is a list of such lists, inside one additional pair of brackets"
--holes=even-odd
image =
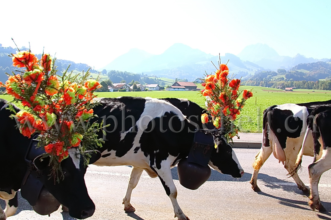
[[(69, 157), (61, 162), (64, 178), (59, 182), (51, 175), (51, 167), (48, 166), (50, 157), (37, 157), (34, 165), (42, 173), (41, 181), (45, 188), (63, 205), (69, 208), (69, 214), (78, 219), (88, 218), (93, 215), (95, 205), (90, 199), (85, 186), (84, 175), (86, 166), (83, 156), (77, 148), (71, 148)], [(101, 154), (93, 154), (90, 163), (94, 163)]]

